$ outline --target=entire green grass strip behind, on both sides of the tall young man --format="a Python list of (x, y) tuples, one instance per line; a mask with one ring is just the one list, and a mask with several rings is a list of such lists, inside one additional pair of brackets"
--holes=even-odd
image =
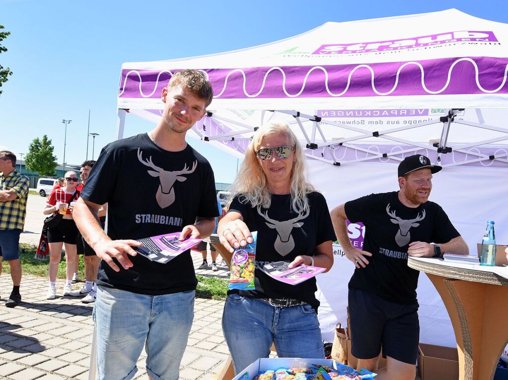
[[(35, 258), (37, 247), (31, 244), (19, 244), (19, 260), (21, 261), (21, 268), (23, 274), (34, 275), (39, 277), (48, 277), (49, 257), (46, 260)], [(83, 257), (79, 256), (78, 278), (85, 278), (85, 268), (83, 264)], [(7, 262), (4, 262), (3, 272), (11, 273), (11, 268)], [(196, 289), (196, 297), (212, 298), (212, 299), (226, 299), (228, 292), (228, 280), (217, 277), (204, 277), (197, 275), (198, 287)], [(57, 278), (66, 278), (65, 258), (62, 255), (60, 264), (58, 265)]]

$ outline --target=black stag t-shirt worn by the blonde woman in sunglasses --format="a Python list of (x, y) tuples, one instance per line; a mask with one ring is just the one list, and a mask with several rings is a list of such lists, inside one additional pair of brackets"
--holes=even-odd
[[(229, 212), (239, 212), (249, 231), (257, 231), (255, 290), (230, 290), (251, 298), (289, 298), (304, 301), (317, 309), (315, 277), (298, 285), (284, 284), (258, 268), (274, 261), (293, 261), (298, 255), (313, 256), (315, 247), (334, 241), (335, 233), (326, 200), (320, 193), (307, 195), (309, 210), (297, 213), (291, 207), (291, 195), (271, 196), (269, 209), (252, 207), (235, 197)], [(243, 201), (243, 202), (242, 202)]]

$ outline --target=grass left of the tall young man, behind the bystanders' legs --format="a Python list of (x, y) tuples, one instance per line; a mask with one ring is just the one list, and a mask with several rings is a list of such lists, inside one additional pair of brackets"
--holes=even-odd
[[(22, 272), (25, 275), (48, 277), (49, 256), (46, 260), (35, 258), (36, 251), (37, 247), (34, 245), (26, 243), (19, 244), (19, 261), (21, 262)], [(80, 258), (81, 260), (79, 261), (78, 278), (84, 279), (85, 267), (83, 258)], [(7, 262), (3, 262), (2, 269), (5, 273), (11, 273), (11, 267)], [(60, 264), (58, 265), (58, 273), (56, 277), (59, 279), (66, 278), (65, 257), (63, 255), (60, 260)]]

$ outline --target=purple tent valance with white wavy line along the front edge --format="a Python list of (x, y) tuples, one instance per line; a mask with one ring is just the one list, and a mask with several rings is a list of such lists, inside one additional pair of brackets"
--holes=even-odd
[[(208, 73), (216, 99), (508, 93), (508, 58), (463, 57), (204, 71)], [(119, 97), (159, 98), (172, 72), (124, 69)]]

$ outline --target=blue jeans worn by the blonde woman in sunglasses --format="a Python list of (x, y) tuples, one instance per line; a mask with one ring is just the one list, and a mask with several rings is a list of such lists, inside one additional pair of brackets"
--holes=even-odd
[(222, 323), (235, 374), (258, 358), (267, 358), (272, 343), (280, 358), (325, 357), (317, 314), (307, 304), (281, 308), (230, 294)]

